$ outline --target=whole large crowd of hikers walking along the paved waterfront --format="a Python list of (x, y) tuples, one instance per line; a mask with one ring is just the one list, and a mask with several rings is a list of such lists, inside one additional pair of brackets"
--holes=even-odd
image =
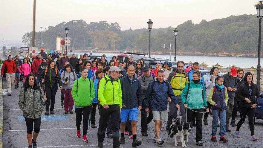
[[(152, 66), (146, 65), (143, 59), (135, 63), (132, 55), (128, 57), (126, 63), (117, 61), (116, 56), (108, 62), (105, 54), (101, 59), (95, 57), (92, 61), (87, 59), (88, 54), (80, 55), (80, 58), (75, 54), (68, 58), (66, 53), (63, 53), (63, 57), (57, 53), (48, 55), (47, 58), (45, 56), (43, 50), (31, 63), (28, 58), (18, 62), (19, 56), (16, 56), (14, 61), (10, 55), (1, 69), (3, 77), (4, 68), (7, 68), (9, 96), (13, 83), (18, 88), (20, 74), (25, 76), (18, 104), (25, 117), (29, 148), (37, 147), (36, 138), (44, 108), (45, 115), (55, 114), (54, 104), (58, 88), (61, 89), (61, 105), (64, 105), (65, 114), (68, 112), (73, 114), (73, 108), (75, 110), (76, 135), (79, 138), (83, 120), (83, 141), (88, 141), (89, 116), (91, 127), (96, 128), (95, 116), (98, 115), (96, 114), (98, 107), (100, 115), (97, 131), (98, 147), (103, 147), (106, 129), (107, 137), (113, 139), (114, 148), (125, 144), (124, 135), (128, 134), (129, 138), (133, 138), (132, 147), (141, 145), (142, 142), (137, 139), (139, 110), (142, 136), (148, 136), (148, 124), (153, 120), (154, 142), (157, 145), (164, 143), (160, 138), (163, 121), (167, 121), (168, 131), (173, 119), (180, 115), (182, 122), (189, 122), (195, 126), (196, 145), (203, 146), (202, 123), (208, 124), (209, 113), (213, 118), (211, 134), (213, 142), (217, 141), (215, 135), (218, 127), (220, 127), (219, 141), (228, 142), (225, 133), (231, 132), (228, 128), (229, 122), (231, 126), (236, 126), (235, 136), (240, 138), (240, 127), (246, 115), (251, 140), (258, 140), (254, 133), (253, 118), (260, 90), (253, 83), (253, 75), (250, 72), (244, 74), (241, 68), (232, 67), (227, 74), (220, 76), (219, 68), (213, 67), (210, 70), (210, 77), (204, 80), (198, 62), (194, 62), (185, 72), (183, 61), (177, 61), (177, 68), (173, 70), (169, 61), (164, 62), (163, 68), (161, 63), (157, 63), (156, 68), (152, 69)], [(238, 109), (241, 119), (236, 124)]]

